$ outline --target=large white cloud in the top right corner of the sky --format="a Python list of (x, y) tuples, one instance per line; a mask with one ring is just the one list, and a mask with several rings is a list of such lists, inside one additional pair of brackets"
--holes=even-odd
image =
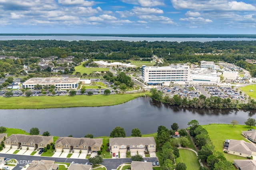
[(204, 11), (256, 11), (256, 7), (245, 2), (230, 0), (171, 0), (176, 9)]

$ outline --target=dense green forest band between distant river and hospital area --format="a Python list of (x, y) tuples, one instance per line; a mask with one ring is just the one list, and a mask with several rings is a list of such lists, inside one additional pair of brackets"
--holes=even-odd
[[(141, 60), (152, 55), (162, 57), (168, 63), (198, 63), (226, 61), (234, 63), (256, 76), (256, 66), (246, 59), (256, 59), (256, 41), (56, 41), (56, 40), (11, 40), (0, 41), (0, 55), (19, 57), (20, 60), (3, 59), (0, 72), (17, 68), (23, 63), (36, 63), (39, 59), (57, 56), (74, 56), (74, 63), (82, 59)], [(31, 58), (32, 57), (32, 58)], [(12, 66), (10, 66), (11, 64)], [(17, 64), (17, 65), (13, 65)]]

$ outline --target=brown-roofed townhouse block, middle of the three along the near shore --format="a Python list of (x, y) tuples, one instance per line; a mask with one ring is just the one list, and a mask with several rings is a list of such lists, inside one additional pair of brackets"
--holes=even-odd
[(56, 151), (64, 152), (83, 152), (91, 153), (93, 151), (100, 150), (102, 146), (102, 138), (91, 139), (91, 138), (74, 138), (74, 137), (59, 137), (55, 142)]

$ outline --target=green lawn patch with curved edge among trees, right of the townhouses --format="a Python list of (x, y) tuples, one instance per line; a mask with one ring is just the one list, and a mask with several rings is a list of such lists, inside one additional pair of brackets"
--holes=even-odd
[(187, 170), (198, 170), (200, 163), (197, 160), (196, 153), (187, 149), (179, 149), (180, 157), (176, 158), (176, 164), (184, 162), (187, 166)]

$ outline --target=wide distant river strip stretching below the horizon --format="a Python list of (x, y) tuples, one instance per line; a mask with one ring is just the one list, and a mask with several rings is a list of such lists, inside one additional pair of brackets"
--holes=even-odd
[(196, 37), (114, 37), (114, 36), (81, 36), (81, 35), (0, 35), (3, 40), (63, 40), (63, 41), (101, 41), (101, 40), (123, 40), (123, 41), (256, 41), (256, 38), (196, 38)]

